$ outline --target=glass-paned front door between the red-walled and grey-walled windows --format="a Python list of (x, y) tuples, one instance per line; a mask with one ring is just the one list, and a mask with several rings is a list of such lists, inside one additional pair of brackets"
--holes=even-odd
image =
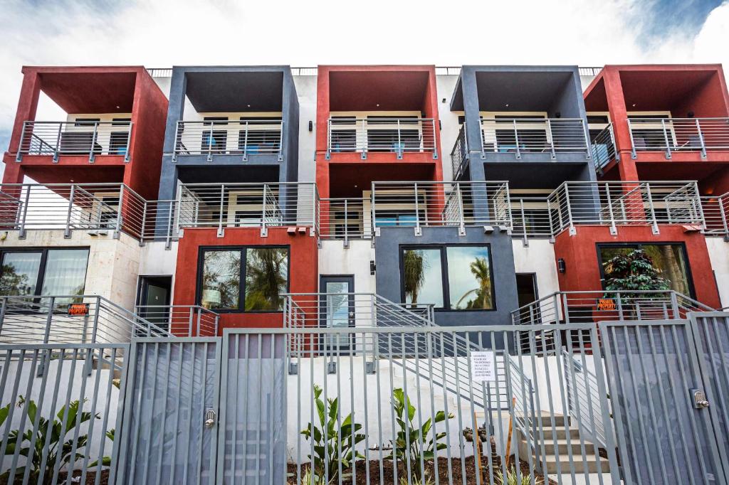
[[(319, 326), (354, 327), (354, 276), (322, 276), (319, 291), (322, 293), (319, 301)], [(327, 350), (337, 352), (354, 350), (352, 334), (327, 334), (324, 339), (323, 343)]]

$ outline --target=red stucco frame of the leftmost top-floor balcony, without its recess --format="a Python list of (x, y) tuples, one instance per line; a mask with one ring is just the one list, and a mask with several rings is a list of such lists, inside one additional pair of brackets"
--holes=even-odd
[[(18, 157), (23, 127), (26, 122), (36, 121), (41, 92), (69, 114), (131, 113), (127, 155)], [(26, 176), (41, 184), (113, 182), (154, 198), (159, 189), (167, 107), (165, 94), (143, 66), (24, 66), (9, 150), (3, 157), (3, 183), (19, 184)]]

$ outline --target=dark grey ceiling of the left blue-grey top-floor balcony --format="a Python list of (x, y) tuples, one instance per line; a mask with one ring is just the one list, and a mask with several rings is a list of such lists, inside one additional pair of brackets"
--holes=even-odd
[(284, 73), (187, 71), (185, 94), (198, 113), (281, 111)]

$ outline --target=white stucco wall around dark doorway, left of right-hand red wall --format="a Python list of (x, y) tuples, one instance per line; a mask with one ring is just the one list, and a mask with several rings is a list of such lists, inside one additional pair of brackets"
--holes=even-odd
[(530, 239), (524, 246), (519, 239), (512, 241), (514, 267), (518, 273), (537, 274), (537, 296), (547, 296), (559, 291), (554, 245), (546, 239)]

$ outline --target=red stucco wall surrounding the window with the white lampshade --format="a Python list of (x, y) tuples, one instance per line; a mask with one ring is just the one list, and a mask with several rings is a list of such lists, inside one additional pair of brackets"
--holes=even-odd
[[(200, 246), (287, 245), (289, 246), (289, 291), (316, 293), (319, 288), (319, 258), (316, 237), (297, 233), (289, 235), (286, 227), (268, 229), (268, 237), (260, 237), (260, 229), (233, 227), (225, 229), (225, 237), (217, 237), (217, 228), (184, 229), (179, 240), (174, 280), (173, 304), (196, 304), (198, 255)], [(281, 327), (283, 314), (222, 313), (219, 332), (227, 327)]]

